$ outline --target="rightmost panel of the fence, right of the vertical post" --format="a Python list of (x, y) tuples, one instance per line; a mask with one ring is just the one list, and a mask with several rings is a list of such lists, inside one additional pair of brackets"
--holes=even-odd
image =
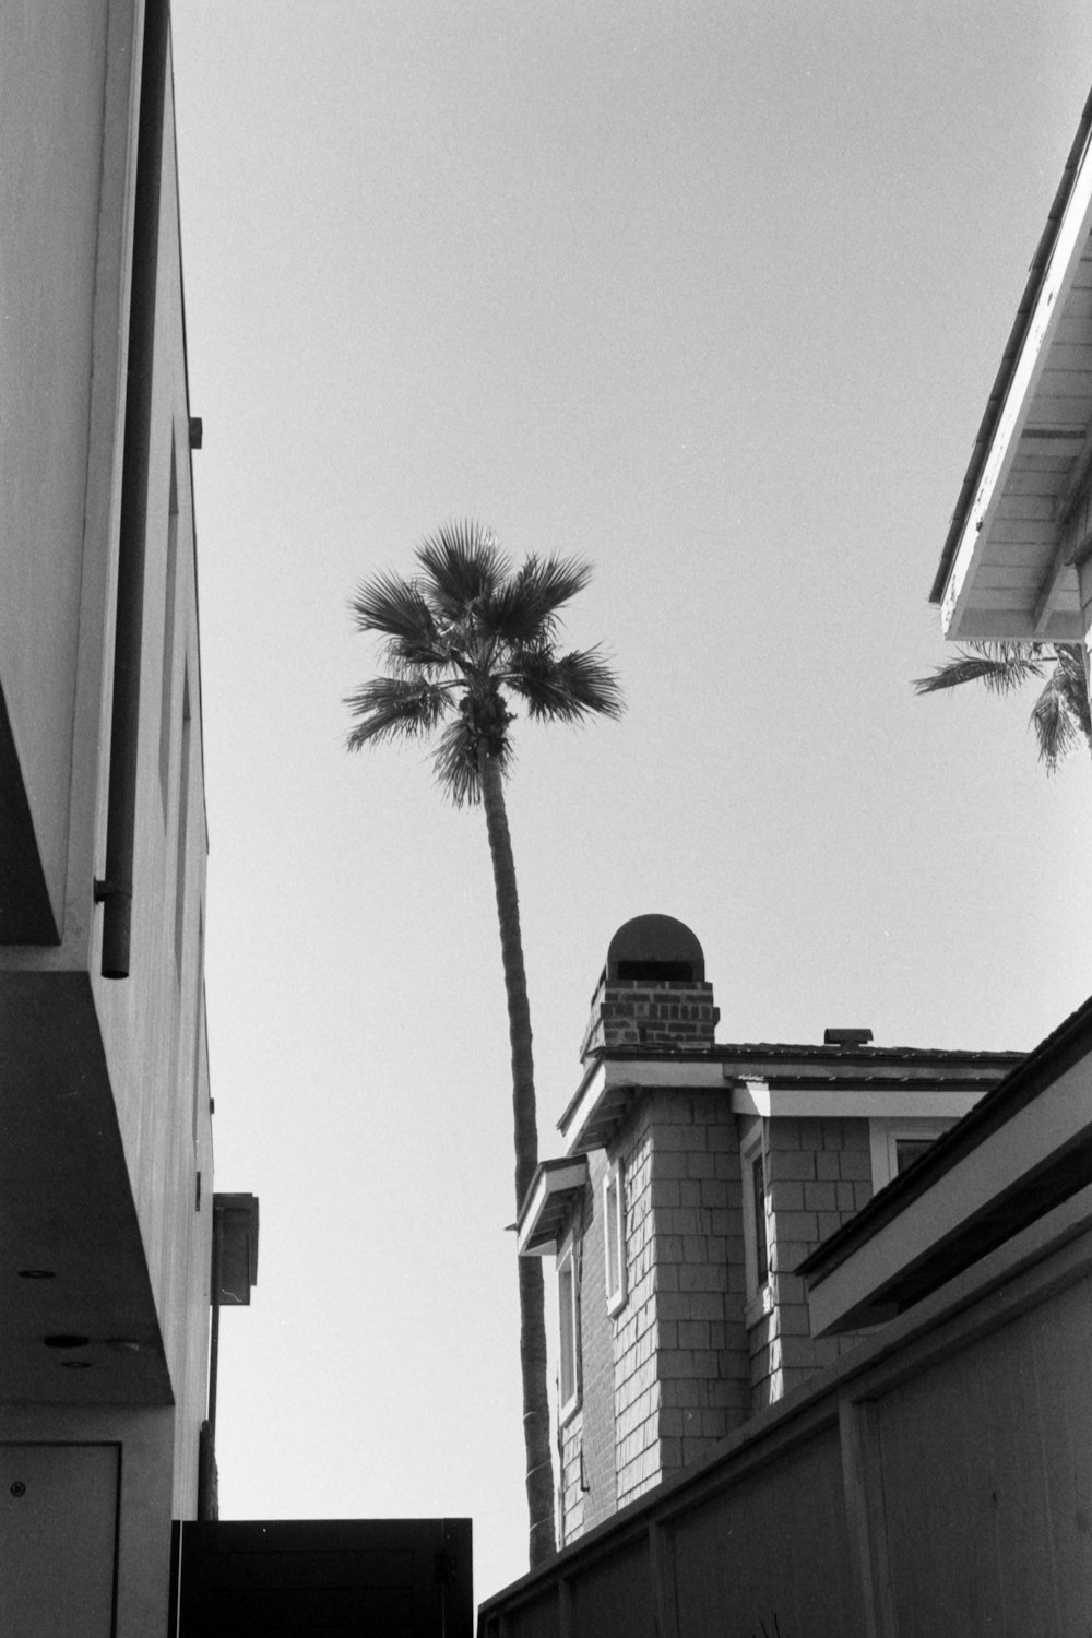
[(899, 1638), (1092, 1630), (1090, 1353), (1081, 1281), (879, 1400)]

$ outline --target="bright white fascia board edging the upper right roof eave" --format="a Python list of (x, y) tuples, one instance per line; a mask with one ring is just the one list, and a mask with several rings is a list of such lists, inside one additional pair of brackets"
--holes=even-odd
[[(1046, 275), (1040, 285), (1035, 313), (1031, 314), (1017, 367), (1009, 382), (1005, 405), (994, 428), (994, 437), (990, 439), (974, 503), (963, 526), (959, 545), (948, 573), (948, 585), (945, 586), (941, 603), (941, 627), (945, 637), (950, 640), (963, 637), (961, 619), (971, 595), (977, 547), (989, 536), (989, 526), (1017, 454), (1020, 432), (1031, 411), (1035, 387), (1046, 362), (1046, 349), (1061, 318), (1066, 293), (1076, 277), (1081, 251), (1092, 229), (1092, 161), (1089, 154), (1090, 151), (1085, 147), (1061, 228), (1058, 229)], [(997, 639), (1028, 636), (1031, 631), (1031, 611), (1028, 611), (1027, 624), (1027, 632), (1005, 629), (990, 636)]]

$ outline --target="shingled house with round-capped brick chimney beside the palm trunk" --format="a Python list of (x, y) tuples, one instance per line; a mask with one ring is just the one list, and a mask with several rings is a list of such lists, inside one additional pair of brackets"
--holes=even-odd
[(519, 1219), (557, 1268), (562, 1543), (855, 1346), (812, 1337), (797, 1266), (1020, 1058), (719, 1045), (694, 934), (612, 939), (565, 1111)]

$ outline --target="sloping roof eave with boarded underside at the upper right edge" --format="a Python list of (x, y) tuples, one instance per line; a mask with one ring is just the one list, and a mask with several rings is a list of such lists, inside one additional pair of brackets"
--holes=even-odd
[(930, 593), (951, 640), (1081, 640), (1092, 475), (1092, 97), (979, 428)]

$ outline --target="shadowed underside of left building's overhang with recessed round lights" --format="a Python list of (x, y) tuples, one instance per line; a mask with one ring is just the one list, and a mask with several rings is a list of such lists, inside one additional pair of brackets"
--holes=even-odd
[(85, 971), (0, 971), (0, 1404), (169, 1405), (174, 1384)]

